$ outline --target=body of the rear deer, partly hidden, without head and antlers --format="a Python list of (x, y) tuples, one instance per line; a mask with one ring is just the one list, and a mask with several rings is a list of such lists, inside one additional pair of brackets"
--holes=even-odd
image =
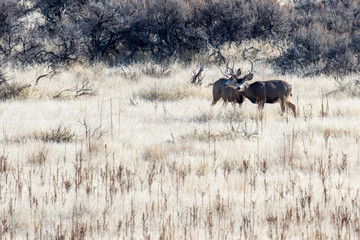
[(226, 78), (220, 78), (213, 85), (213, 102), (211, 105), (215, 105), (221, 98), (224, 101), (224, 104), (228, 102), (242, 104), (244, 101), (244, 96), (236, 89), (229, 88), (225, 86), (225, 83), (228, 81)]

